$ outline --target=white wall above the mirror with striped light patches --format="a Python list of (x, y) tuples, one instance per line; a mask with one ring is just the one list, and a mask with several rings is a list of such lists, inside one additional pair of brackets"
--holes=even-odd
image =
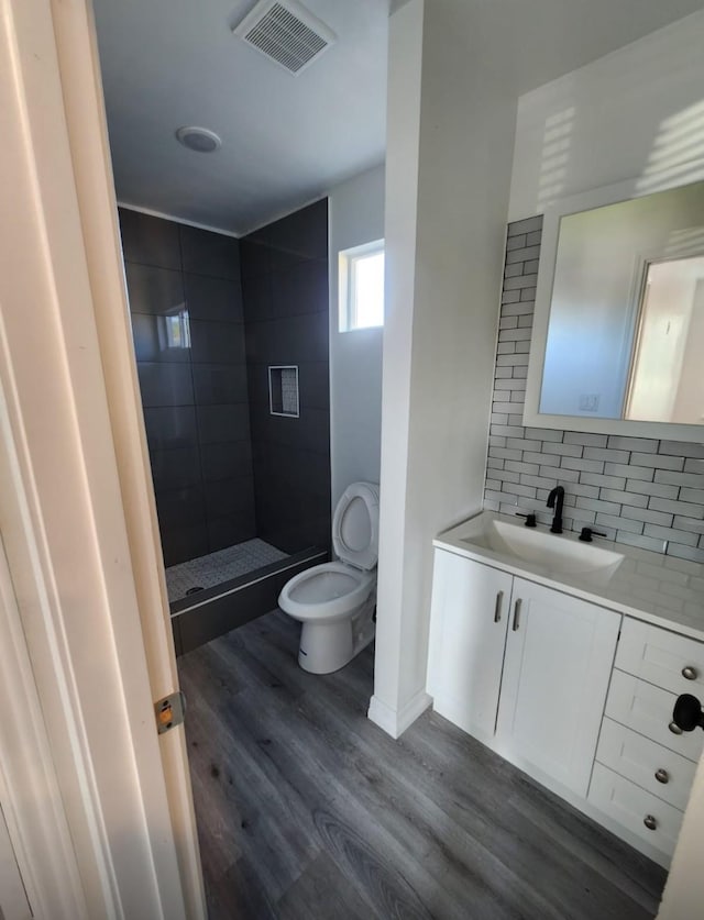
[(638, 178), (704, 177), (704, 11), (520, 97), (509, 221)]

